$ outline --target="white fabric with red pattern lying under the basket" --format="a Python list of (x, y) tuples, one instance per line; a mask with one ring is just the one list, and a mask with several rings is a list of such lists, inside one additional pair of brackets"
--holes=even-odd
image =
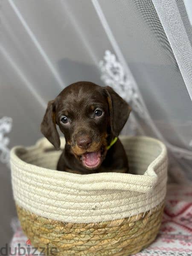
[[(32, 255), (34, 249), (20, 227), (15, 232), (11, 248), (18, 252), (26, 250)], [(27, 252), (31, 254), (27, 254)], [(21, 251), (22, 253), (22, 251)], [(19, 254), (15, 254), (19, 256)], [(40, 255), (38, 253), (37, 255)], [(157, 239), (135, 256), (191, 256), (192, 255), (192, 187), (169, 185), (163, 223)]]

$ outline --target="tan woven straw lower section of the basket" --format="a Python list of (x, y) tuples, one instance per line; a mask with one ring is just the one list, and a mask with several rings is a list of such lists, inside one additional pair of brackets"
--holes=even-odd
[(34, 247), (45, 250), (57, 247), (56, 253), (46, 251), (46, 255), (128, 256), (154, 241), (160, 228), (163, 207), (161, 203), (148, 212), (130, 218), (98, 223), (54, 221), (18, 205), (17, 214), (24, 233)]

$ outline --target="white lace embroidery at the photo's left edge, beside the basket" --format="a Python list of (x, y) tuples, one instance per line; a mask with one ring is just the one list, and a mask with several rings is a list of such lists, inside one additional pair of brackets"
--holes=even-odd
[(5, 136), (12, 129), (12, 118), (4, 116), (0, 119), (0, 162), (9, 165), (9, 153), (8, 144), (10, 139)]

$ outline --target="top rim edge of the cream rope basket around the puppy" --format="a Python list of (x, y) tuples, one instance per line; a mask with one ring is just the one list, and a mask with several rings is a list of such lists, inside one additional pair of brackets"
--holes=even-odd
[[(132, 175), (130, 173), (117, 173), (117, 172), (102, 172), (102, 173), (92, 173), (92, 174), (87, 174), (87, 175), (81, 175), (81, 174), (75, 174), (75, 173), (70, 173), (70, 172), (58, 172), (57, 170), (54, 169), (47, 169), (44, 167), (40, 166), (35, 166), (31, 163), (27, 163), (20, 159), (18, 156), (19, 153), (23, 154), (26, 151), (30, 150), (35, 150), (38, 148), (53, 148), (51, 143), (46, 138), (41, 138), (40, 140), (35, 143), (35, 145), (29, 146), (29, 147), (24, 147), (24, 146), (15, 146), (12, 148), (10, 152), (10, 160), (11, 163), (14, 163), (17, 167), (22, 168), (22, 169), (27, 169), (30, 170), (33, 168), (33, 172), (41, 173), (41, 175), (44, 176), (54, 176), (55, 179), (67, 179), (69, 181), (73, 181), (75, 183), (79, 183), (80, 186), (82, 184), (87, 183), (89, 187), (84, 186), (84, 190), (92, 190), (92, 189), (102, 189), (102, 187), (98, 186), (100, 183), (108, 183), (109, 186), (103, 189), (110, 189), (110, 183), (113, 182), (118, 182), (122, 183), (123, 186), (129, 182), (130, 184), (133, 183), (138, 186), (143, 186), (142, 192), (150, 192), (154, 186), (157, 183), (157, 175), (155, 173), (155, 168), (156, 166), (164, 160), (167, 154), (166, 146), (157, 139), (151, 138), (151, 137), (145, 137), (145, 136), (135, 136), (135, 137), (129, 137), (129, 136), (119, 136), (119, 139), (121, 141), (126, 140), (131, 142), (136, 142), (136, 141), (143, 141), (143, 142), (148, 142), (148, 143), (156, 143), (157, 146), (160, 147), (160, 154), (148, 165), (147, 170), (143, 175)], [(65, 143), (64, 138), (61, 138), (62, 143)], [(35, 169), (34, 170), (34, 166)], [(137, 179), (135, 178), (137, 176)], [(145, 184), (147, 186), (145, 187)], [(111, 189), (114, 189), (111, 188)], [(123, 189), (123, 187), (120, 187), (119, 189)], [(124, 188), (126, 190), (126, 186)]]

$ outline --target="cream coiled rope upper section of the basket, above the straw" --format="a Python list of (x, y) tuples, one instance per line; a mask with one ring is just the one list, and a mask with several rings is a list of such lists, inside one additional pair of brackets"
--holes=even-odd
[[(47, 168), (55, 166), (58, 159), (59, 151), (47, 153), (53, 146), (46, 139), (39, 140), (29, 150), (15, 147), (20, 150), (15, 156), (14, 149), (11, 157), (16, 203), (43, 217), (75, 223), (126, 218), (157, 206), (166, 195), (166, 147), (148, 137), (122, 137), (122, 141), (128, 156), (133, 153), (130, 166), (133, 164), (136, 173), (143, 175), (58, 172), (35, 166), (38, 158), (43, 159), (42, 166)], [(148, 170), (151, 165), (153, 170)], [(46, 171), (42, 173), (42, 169)]]

